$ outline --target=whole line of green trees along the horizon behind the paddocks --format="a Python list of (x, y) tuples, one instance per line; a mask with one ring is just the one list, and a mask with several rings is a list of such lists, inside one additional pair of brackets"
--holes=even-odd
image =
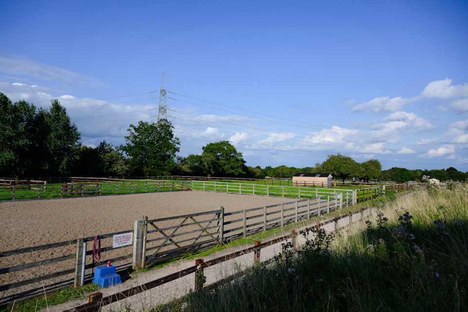
[(0, 93), (0, 176), (221, 176), (291, 178), (296, 173), (330, 173), (337, 179), (421, 180), (422, 176), (465, 181), (467, 173), (447, 170), (382, 171), (377, 159), (356, 162), (349, 156), (330, 155), (313, 167), (261, 168), (246, 166), (242, 153), (229, 141), (209, 143), (201, 153), (178, 156), (180, 139), (169, 120), (130, 124), (125, 144), (101, 141), (81, 144), (78, 127), (58, 99), (50, 108), (36, 108), (24, 100), (12, 102)]

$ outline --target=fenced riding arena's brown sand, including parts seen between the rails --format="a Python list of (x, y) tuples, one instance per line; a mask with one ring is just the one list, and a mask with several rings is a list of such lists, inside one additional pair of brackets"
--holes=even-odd
[[(93, 255), (92, 238), (96, 235), (101, 238), (98, 265), (114, 259), (112, 263), (117, 270), (123, 270), (131, 267), (133, 246), (113, 248), (112, 234), (133, 233), (135, 221), (145, 216), (149, 221), (156, 220), (148, 223), (146, 256), (164, 256), (165, 251), (184, 246), (190, 249), (192, 245), (196, 249), (197, 243), (213, 243), (219, 239), (217, 221), (221, 206), (224, 213), (229, 214), (254, 207), (283, 207), (281, 203), (287, 202), (290, 204), (288, 207), (293, 207), (293, 200), (296, 199), (179, 191), (0, 202), (0, 304), (38, 293), (43, 285), (52, 290), (73, 284), (79, 238), (87, 238), (85, 278), (88, 282), (92, 279), (95, 265), (93, 258), (98, 256)], [(187, 217), (213, 211), (218, 213)], [(244, 218), (261, 213), (263, 210), (248, 211), (244, 213)], [(185, 216), (171, 218), (179, 215)], [(238, 225), (234, 225), (234, 222), (230, 224), (230, 220), (239, 218), (242, 218), (242, 214), (226, 216), (224, 231), (238, 230), (234, 228)], [(185, 234), (174, 234), (182, 228)], [(254, 226), (251, 229), (254, 230)], [(168, 238), (171, 234), (173, 236)]]

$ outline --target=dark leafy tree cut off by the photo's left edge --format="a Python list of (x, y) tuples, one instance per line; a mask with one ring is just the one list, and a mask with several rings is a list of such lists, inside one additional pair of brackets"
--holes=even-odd
[(12, 104), (0, 93), (0, 109), (0, 173), (22, 176), (33, 166), (36, 107), (25, 101)]

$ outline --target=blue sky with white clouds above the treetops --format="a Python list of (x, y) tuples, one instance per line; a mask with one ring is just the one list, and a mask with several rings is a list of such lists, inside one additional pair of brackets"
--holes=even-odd
[(468, 171), (468, 2), (375, 2), (3, 2), (0, 92), (119, 145), (166, 72), (181, 156)]

